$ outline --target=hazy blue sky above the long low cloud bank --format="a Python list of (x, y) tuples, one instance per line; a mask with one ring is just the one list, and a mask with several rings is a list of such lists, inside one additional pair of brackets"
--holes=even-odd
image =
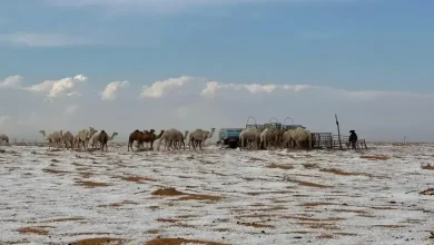
[(431, 98), (433, 9), (431, 0), (3, 0), (0, 81), (85, 75), (89, 90), (125, 80), (140, 90), (191, 76)]

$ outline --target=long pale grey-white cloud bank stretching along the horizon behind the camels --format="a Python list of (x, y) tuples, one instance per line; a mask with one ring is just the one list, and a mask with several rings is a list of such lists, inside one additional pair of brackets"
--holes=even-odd
[(85, 75), (30, 86), (21, 86), (22, 80), (20, 76), (0, 80), (0, 104), (7, 105), (0, 108), (0, 130), (17, 138), (41, 140), (40, 129), (77, 131), (92, 126), (116, 130), (126, 140), (135, 129), (244, 127), (250, 116), (258, 124), (289, 117), (313, 131), (336, 133), (337, 114), (343, 134), (355, 129), (368, 140), (404, 136), (434, 140), (434, 116), (427, 112), (434, 108), (434, 95), (430, 94), (292, 82), (228, 84), (194, 76), (106, 85), (86, 82), (91, 78)]

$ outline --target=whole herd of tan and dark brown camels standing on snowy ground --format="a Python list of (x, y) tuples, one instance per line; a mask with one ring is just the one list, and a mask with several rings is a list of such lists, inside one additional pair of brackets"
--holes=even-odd
[[(135, 130), (128, 138), (128, 151), (130, 148), (134, 151), (132, 144), (135, 141), (138, 149), (142, 148), (145, 143), (150, 146), (150, 149), (154, 149), (154, 141), (156, 140), (158, 140), (157, 150), (160, 149), (162, 141), (165, 143), (166, 150), (180, 150), (183, 147), (185, 150), (186, 139), (188, 139), (189, 149), (191, 149), (191, 146), (195, 150), (196, 147), (203, 149), (203, 144), (208, 138), (213, 137), (215, 130), (215, 128), (211, 128), (210, 131), (196, 129), (191, 133), (186, 130), (183, 134), (178, 129), (171, 128), (168, 130), (161, 130), (159, 135), (156, 135), (154, 129), (144, 131)], [(82, 129), (75, 136), (70, 131), (63, 134), (62, 130), (55, 131), (49, 135), (46, 135), (45, 130), (40, 130), (39, 133), (43, 135), (46, 140), (48, 140), (49, 150), (51, 147), (61, 147), (63, 149), (83, 148), (87, 150), (89, 146), (91, 146), (91, 148), (96, 148), (99, 145), (101, 150), (106, 149), (107, 151), (108, 141), (112, 140), (118, 135), (118, 133), (115, 131), (111, 136), (108, 136), (105, 130), (98, 131), (92, 127), (89, 127), (89, 129)], [(246, 128), (239, 135), (239, 145), (241, 147), (256, 149), (270, 149), (270, 147), (294, 148), (295, 146), (298, 149), (312, 149), (316, 140), (316, 137), (303, 127), (286, 130), (278, 128)], [(6, 135), (0, 135), (0, 143), (1, 141), (9, 144), (9, 138)]]

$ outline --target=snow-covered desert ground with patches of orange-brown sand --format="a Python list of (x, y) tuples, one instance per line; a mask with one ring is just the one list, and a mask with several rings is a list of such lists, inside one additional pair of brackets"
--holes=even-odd
[(434, 145), (369, 147), (1, 147), (0, 244), (430, 244)]

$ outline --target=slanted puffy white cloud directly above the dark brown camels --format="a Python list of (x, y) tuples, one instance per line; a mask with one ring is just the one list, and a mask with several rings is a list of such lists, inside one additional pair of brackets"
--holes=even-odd
[(169, 78), (167, 80), (156, 81), (151, 86), (142, 86), (141, 98), (160, 98), (170, 90), (177, 90), (189, 84), (194, 78), (183, 76), (179, 78)]

